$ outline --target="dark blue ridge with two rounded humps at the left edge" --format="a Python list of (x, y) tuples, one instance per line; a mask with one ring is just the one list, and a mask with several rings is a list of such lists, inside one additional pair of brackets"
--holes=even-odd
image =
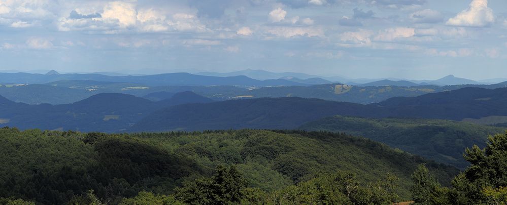
[(61, 105), (27, 105), (0, 99), (0, 103), (7, 105), (0, 107), (0, 119), (3, 119), (2, 126), (20, 129), (121, 132), (156, 110), (207, 102), (212, 100), (191, 92), (175, 94), (170, 99), (157, 102), (118, 93), (97, 94)]

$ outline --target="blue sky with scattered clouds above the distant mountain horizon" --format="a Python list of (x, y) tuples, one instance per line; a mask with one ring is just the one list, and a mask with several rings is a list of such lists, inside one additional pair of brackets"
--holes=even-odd
[(0, 0), (0, 70), (507, 77), (505, 0)]

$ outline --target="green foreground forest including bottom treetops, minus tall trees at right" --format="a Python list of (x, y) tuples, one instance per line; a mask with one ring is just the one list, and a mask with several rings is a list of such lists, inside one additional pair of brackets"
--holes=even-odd
[(411, 199), (420, 164), (444, 185), (459, 172), (368, 139), (303, 131), (3, 128), (0, 155), (0, 203), (14, 204), (388, 204)]

